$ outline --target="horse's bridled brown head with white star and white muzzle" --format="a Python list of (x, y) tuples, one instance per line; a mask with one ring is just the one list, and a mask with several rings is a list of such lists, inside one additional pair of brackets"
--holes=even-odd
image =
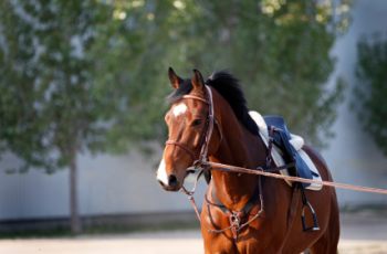
[[(187, 168), (206, 152), (213, 125), (209, 92), (199, 71), (184, 80), (172, 68), (168, 72), (175, 88), (169, 96), (170, 109), (165, 115), (168, 140), (157, 170), (157, 180), (168, 191), (178, 191), (187, 177)], [(203, 151), (203, 149), (206, 151)]]

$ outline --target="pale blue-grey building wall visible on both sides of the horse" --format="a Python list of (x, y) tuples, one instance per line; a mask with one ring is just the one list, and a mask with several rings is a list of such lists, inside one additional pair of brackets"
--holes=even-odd
[[(332, 54), (337, 57), (336, 70), (330, 83), (337, 76), (348, 82), (344, 103), (338, 108), (334, 125), (336, 137), (323, 152), (336, 181), (370, 187), (387, 187), (387, 159), (381, 156), (369, 137), (360, 128), (348, 108), (351, 86), (355, 83), (356, 42), (362, 35), (384, 31), (387, 24), (387, 1), (357, 1), (353, 11), (353, 24), (348, 33), (336, 41)], [(386, 31), (384, 31), (386, 32)], [(181, 193), (165, 192), (156, 182), (155, 170), (160, 154), (144, 158), (137, 152), (112, 157), (80, 156), (80, 212), (83, 215), (151, 213), (190, 210)], [(0, 168), (18, 163), (4, 158)], [(203, 197), (205, 186), (198, 190)], [(364, 203), (387, 204), (386, 195), (365, 194), (338, 190), (341, 205)], [(45, 174), (31, 170), (25, 174), (6, 174), (0, 171), (0, 220), (62, 218), (69, 215), (69, 171)]]

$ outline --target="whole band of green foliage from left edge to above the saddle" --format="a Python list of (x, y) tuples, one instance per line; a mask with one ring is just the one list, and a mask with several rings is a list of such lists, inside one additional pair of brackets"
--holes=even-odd
[[(0, 3), (0, 146), (49, 171), (74, 154), (165, 140), (167, 68), (228, 68), (250, 108), (321, 144), (348, 0), (34, 0)], [(335, 19), (334, 17), (335, 12)]]

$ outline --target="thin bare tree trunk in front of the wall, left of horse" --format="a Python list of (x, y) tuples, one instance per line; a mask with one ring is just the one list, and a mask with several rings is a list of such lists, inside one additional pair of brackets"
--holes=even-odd
[(71, 232), (79, 234), (82, 232), (82, 225), (79, 214), (79, 200), (77, 200), (77, 168), (76, 168), (76, 151), (71, 154), (70, 161), (70, 224)]

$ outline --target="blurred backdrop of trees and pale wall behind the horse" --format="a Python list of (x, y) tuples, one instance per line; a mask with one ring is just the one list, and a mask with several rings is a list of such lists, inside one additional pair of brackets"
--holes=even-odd
[[(0, 234), (197, 224), (155, 179), (169, 66), (229, 70), (336, 181), (386, 188), (386, 13), (384, 0), (2, 0)], [(343, 212), (386, 216), (386, 195), (337, 192)]]

